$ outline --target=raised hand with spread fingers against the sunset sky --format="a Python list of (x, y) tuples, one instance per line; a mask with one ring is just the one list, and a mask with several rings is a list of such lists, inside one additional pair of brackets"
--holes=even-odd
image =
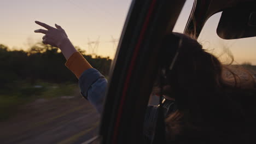
[(34, 32), (35, 33), (43, 33), (45, 34), (43, 36), (43, 43), (44, 44), (49, 44), (51, 46), (59, 47), (61, 49), (61, 44), (66, 43), (68, 40), (68, 36), (66, 32), (64, 31), (61, 26), (55, 24), (55, 27), (51, 27), (49, 25), (46, 25), (43, 22), (35, 21), (38, 25), (46, 28), (45, 29), (37, 29)]

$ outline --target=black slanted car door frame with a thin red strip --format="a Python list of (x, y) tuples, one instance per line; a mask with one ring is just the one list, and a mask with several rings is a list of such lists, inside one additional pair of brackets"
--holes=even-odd
[(141, 143), (144, 113), (152, 92), (161, 40), (172, 29), (185, 0), (134, 0), (110, 70), (101, 121), (101, 143)]

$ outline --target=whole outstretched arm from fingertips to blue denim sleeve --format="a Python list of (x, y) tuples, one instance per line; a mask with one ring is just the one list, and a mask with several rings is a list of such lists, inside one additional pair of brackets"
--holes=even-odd
[(93, 69), (86, 61), (83, 55), (79, 53), (61, 26), (55, 24), (55, 27), (46, 25), (43, 22), (35, 21), (38, 25), (46, 28), (37, 29), (34, 32), (43, 33), (43, 43), (51, 46), (59, 47), (65, 58), (67, 59), (66, 66), (79, 79), (79, 86), (82, 95), (89, 99), (95, 105), (98, 112), (101, 113), (104, 101), (104, 95), (107, 87), (107, 80), (100, 74), (99, 71)]

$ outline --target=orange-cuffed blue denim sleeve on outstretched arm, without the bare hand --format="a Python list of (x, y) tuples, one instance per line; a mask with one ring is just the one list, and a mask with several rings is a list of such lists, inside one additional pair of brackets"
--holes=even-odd
[(100, 71), (91, 67), (79, 52), (74, 52), (66, 63), (79, 79), (79, 87), (84, 98), (94, 105), (98, 112), (102, 112), (106, 94), (107, 80)]

